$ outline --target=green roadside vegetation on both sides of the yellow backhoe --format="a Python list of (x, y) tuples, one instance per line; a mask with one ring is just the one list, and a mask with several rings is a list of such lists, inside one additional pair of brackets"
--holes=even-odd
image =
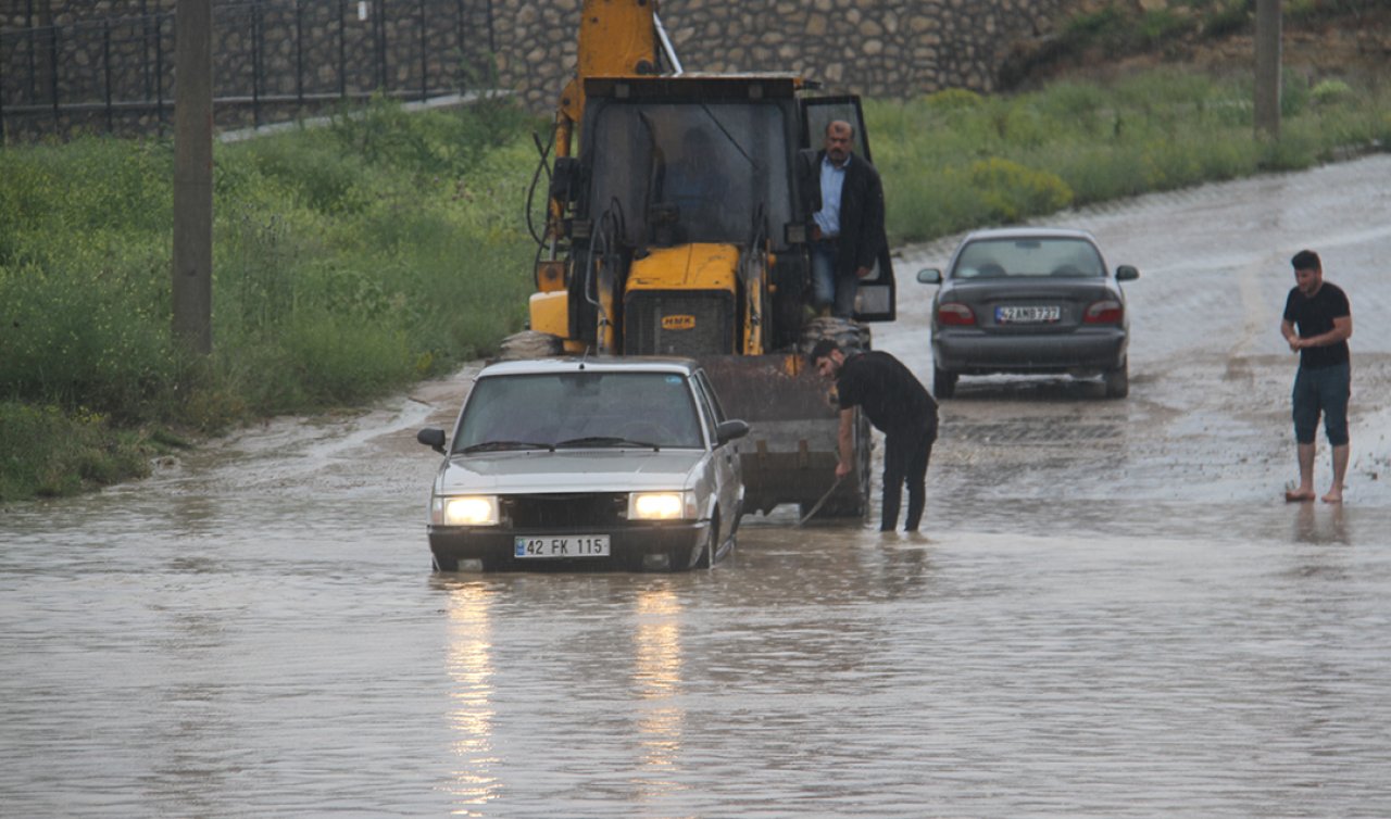
[[(1173, 71), (867, 106), (894, 243), (1391, 145), (1385, 89)], [(506, 103), (376, 104), (214, 153), (214, 353), (171, 343), (172, 146), (0, 150), (0, 502), (147, 471), (185, 441), (349, 406), (487, 356), (526, 318), (534, 131)], [(544, 181), (542, 181), (544, 182)]]

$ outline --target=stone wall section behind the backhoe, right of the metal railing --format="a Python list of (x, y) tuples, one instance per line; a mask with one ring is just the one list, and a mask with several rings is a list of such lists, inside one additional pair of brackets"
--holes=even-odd
[[(911, 97), (996, 89), (1010, 44), (1050, 31), (1067, 0), (661, 0), (686, 71), (776, 71), (830, 92)], [(555, 104), (574, 72), (580, 0), (494, 0), (502, 83)]]

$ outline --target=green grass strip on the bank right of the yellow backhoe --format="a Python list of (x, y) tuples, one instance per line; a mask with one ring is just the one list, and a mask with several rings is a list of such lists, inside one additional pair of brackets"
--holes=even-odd
[(1391, 146), (1391, 90), (1287, 75), (1278, 142), (1245, 78), (1181, 70), (865, 106), (893, 245)]

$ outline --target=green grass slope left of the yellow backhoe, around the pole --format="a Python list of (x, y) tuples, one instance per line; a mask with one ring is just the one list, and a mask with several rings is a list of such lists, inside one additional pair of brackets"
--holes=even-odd
[(0, 150), (0, 501), (143, 474), (152, 431), (359, 403), (490, 353), (526, 320), (534, 128), (501, 103), (380, 103), (218, 145), (207, 360), (170, 339), (171, 145)]

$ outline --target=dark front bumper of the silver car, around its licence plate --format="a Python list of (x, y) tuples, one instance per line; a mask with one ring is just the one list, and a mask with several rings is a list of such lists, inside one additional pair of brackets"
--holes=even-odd
[(545, 571), (545, 570), (670, 570), (694, 567), (709, 542), (709, 521), (680, 521), (644, 526), (612, 527), (608, 556), (583, 558), (517, 558), (517, 537), (573, 535), (573, 530), (498, 528), (431, 526), (430, 551), (440, 569), (453, 571), (460, 562), (476, 562), (484, 571)]

